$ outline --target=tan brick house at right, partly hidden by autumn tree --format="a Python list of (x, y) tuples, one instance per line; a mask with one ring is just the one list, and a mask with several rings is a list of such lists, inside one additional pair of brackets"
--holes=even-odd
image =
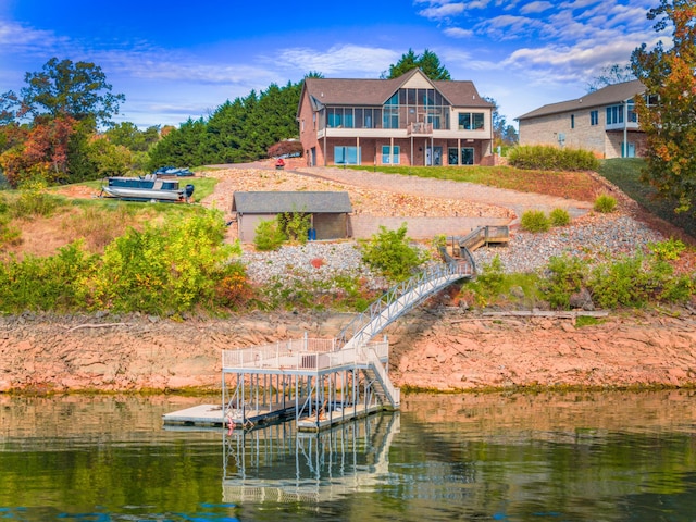
[[(636, 95), (645, 95), (645, 86), (638, 79), (527, 112), (517, 119), (520, 145), (585, 149), (599, 158), (643, 157), (645, 133), (638, 128), (634, 111)], [(652, 97), (648, 100), (655, 101)]]

